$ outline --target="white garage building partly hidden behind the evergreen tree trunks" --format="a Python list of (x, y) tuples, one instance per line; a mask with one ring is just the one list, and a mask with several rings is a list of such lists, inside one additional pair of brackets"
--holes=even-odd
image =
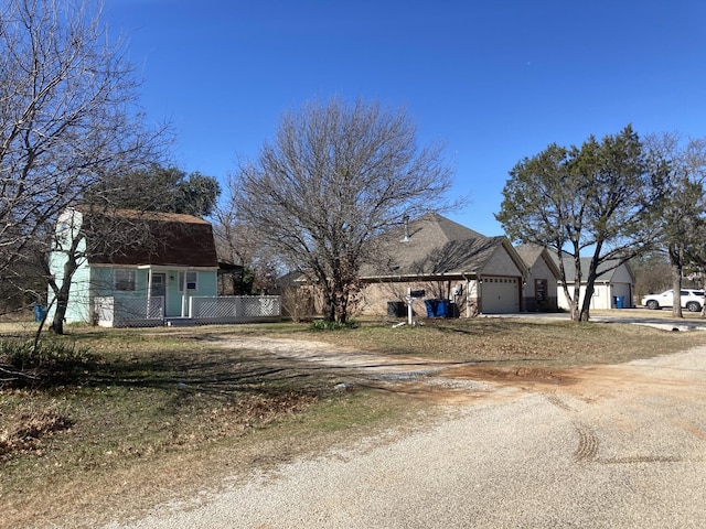
[[(558, 256), (552, 253), (554, 262), (558, 267)], [(618, 260), (609, 260), (602, 262), (598, 267), (598, 277), (596, 278), (593, 295), (590, 301), (590, 309), (630, 309), (633, 305), (632, 295), (634, 292), (634, 279), (630, 267), (622, 263), (618, 264)], [(579, 296), (579, 306), (584, 302), (586, 295), (586, 274), (588, 273), (588, 267), (590, 264), (590, 258), (585, 257), (580, 259), (581, 264), (581, 289)], [(574, 266), (573, 257), (564, 258), (564, 270), (566, 273), (566, 281), (569, 287), (569, 293), (574, 292), (574, 281), (576, 278), (576, 267)], [(570, 309), (569, 301), (564, 294), (563, 284), (558, 283), (558, 306), (560, 309)]]

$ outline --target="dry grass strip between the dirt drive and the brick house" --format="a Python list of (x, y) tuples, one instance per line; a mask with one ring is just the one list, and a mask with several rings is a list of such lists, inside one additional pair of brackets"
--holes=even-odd
[(393, 328), (367, 323), (346, 333), (300, 333), (340, 347), (411, 355), (429, 359), (576, 367), (614, 364), (706, 344), (706, 333), (668, 333), (620, 323), (568, 320), (429, 320), (422, 326)]

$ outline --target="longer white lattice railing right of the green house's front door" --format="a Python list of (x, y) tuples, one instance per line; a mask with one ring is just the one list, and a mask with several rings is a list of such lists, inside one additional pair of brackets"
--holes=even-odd
[(191, 298), (189, 314), (197, 324), (278, 321), (281, 299), (279, 295)]

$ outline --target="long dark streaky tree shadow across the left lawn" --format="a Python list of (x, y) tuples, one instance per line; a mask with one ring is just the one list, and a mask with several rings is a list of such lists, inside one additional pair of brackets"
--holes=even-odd
[(25, 366), (28, 376), (0, 388), (55, 391), (85, 387), (149, 388), (228, 396), (235, 393), (320, 393), (331, 390), (346, 369), (280, 358), (246, 349), (199, 349), (126, 354), (114, 358), (86, 353)]

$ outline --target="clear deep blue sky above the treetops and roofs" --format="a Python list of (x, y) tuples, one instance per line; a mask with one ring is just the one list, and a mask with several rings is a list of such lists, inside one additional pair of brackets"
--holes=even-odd
[(332, 96), (404, 107), (445, 142), (448, 216), (484, 235), (507, 172), (625, 125), (706, 137), (706, 2), (104, 0), (174, 162), (222, 182), (281, 114)]

